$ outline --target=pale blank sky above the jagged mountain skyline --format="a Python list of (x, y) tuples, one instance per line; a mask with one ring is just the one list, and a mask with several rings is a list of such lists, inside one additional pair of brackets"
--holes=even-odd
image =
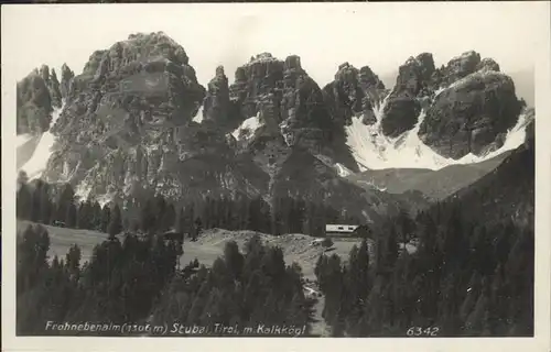
[[(163, 31), (180, 43), (202, 85), (223, 65), (258, 53), (301, 56), (320, 86), (344, 62), (393, 79), (408, 57), (433, 54), (436, 66), (475, 50), (506, 73), (532, 70), (542, 7), (520, 2), (47, 4), (3, 6), (2, 54), (18, 79), (46, 64), (82, 73), (95, 50), (137, 32)], [(2, 51), (3, 52), (3, 51)], [(14, 55), (14, 53), (18, 53)], [(2, 65), (3, 66), (3, 65)]]

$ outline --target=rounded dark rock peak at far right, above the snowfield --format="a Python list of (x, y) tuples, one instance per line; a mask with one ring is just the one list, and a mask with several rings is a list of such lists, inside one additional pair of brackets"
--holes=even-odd
[[(472, 57), (472, 56), (471, 56)], [(476, 57), (476, 56), (475, 56)], [(439, 154), (461, 158), (499, 148), (522, 109), (512, 79), (493, 62), (437, 95), (419, 129), (421, 140)]]

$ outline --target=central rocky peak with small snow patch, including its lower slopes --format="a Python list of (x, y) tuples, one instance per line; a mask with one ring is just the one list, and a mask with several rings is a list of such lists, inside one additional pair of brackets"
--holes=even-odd
[[(218, 68), (208, 85), (204, 121), (235, 131), (229, 139), (237, 157), (253, 163), (251, 176), (260, 170), (260, 179), (266, 179), (256, 183), (260, 194), (270, 200), (300, 196), (331, 199), (336, 207), (347, 208), (350, 202), (358, 209), (365, 207), (372, 195), (339, 180), (334, 167), (342, 163), (357, 169), (342, 121), (332, 114), (326, 96), (302, 68), (300, 57), (253, 56), (237, 68), (235, 82), (226, 87), (227, 78)], [(365, 215), (356, 215), (372, 219), (378, 211), (387, 211), (382, 206), (377, 209), (380, 202), (374, 201)], [(397, 201), (390, 204), (396, 209)]]

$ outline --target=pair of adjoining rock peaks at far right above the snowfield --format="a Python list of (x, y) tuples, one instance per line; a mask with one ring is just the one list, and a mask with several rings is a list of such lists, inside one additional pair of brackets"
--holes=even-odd
[[(425, 113), (419, 121), (421, 110)], [(520, 110), (512, 80), (491, 58), (467, 52), (436, 69), (432, 55), (423, 53), (400, 66), (381, 130), (397, 138), (420, 123), (418, 133), (426, 145), (461, 158), (499, 148)]]

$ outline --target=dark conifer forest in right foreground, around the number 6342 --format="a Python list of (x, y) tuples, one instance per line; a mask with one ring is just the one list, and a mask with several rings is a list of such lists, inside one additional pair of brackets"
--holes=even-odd
[[(346, 263), (322, 255), (315, 274), (335, 337), (533, 334), (533, 230), (466, 218), (436, 205), (413, 223), (420, 246), (399, 253), (400, 221)], [(402, 231), (407, 232), (407, 231)]]

